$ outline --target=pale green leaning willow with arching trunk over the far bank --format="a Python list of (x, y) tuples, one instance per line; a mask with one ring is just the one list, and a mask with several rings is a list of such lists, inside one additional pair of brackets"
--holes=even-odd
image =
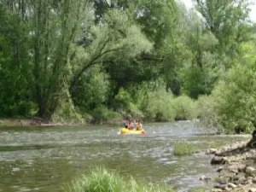
[[(94, 22), (92, 22), (94, 23)], [(84, 27), (88, 27), (84, 26)], [(131, 82), (131, 77), (139, 75), (145, 65), (131, 65), (142, 53), (149, 53), (152, 44), (143, 35), (141, 28), (134, 24), (127, 13), (119, 9), (108, 9), (100, 23), (87, 28), (83, 46), (73, 46), (73, 78), (69, 90), (73, 99), (83, 90), (83, 80), (90, 67), (101, 65), (110, 74), (110, 79), (119, 85)], [(130, 74), (130, 76), (129, 76)], [(122, 76), (125, 81), (120, 80)], [(128, 77), (128, 78), (127, 78)], [(141, 79), (142, 80), (142, 79)], [(119, 86), (111, 91), (117, 94)], [(84, 91), (83, 91), (84, 92)]]

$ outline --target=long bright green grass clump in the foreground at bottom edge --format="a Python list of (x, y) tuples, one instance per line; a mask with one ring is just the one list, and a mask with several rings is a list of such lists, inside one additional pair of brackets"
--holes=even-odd
[(89, 175), (81, 175), (67, 186), (66, 192), (173, 192), (166, 185), (144, 184), (132, 177), (96, 168)]

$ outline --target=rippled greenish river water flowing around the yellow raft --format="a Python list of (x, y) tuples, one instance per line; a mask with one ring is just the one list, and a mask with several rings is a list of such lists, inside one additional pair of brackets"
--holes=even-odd
[[(210, 189), (216, 167), (204, 153), (177, 157), (173, 144), (185, 140), (201, 150), (246, 140), (213, 136), (190, 121), (144, 125), (146, 135), (119, 135), (118, 125), (79, 127), (0, 127), (0, 191), (59, 192), (95, 166), (137, 180), (167, 183), (177, 191)], [(206, 134), (207, 132), (207, 134)]]

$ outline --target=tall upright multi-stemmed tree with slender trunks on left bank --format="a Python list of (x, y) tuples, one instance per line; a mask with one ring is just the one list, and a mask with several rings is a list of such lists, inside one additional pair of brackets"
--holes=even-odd
[(38, 0), (30, 2), (38, 115), (50, 118), (63, 99), (69, 100), (70, 49), (89, 0)]

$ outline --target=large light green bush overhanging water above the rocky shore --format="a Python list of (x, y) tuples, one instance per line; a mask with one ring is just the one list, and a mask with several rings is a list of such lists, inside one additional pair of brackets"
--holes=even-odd
[(253, 66), (230, 69), (212, 92), (216, 113), (226, 132), (251, 132), (256, 125), (256, 79)]

